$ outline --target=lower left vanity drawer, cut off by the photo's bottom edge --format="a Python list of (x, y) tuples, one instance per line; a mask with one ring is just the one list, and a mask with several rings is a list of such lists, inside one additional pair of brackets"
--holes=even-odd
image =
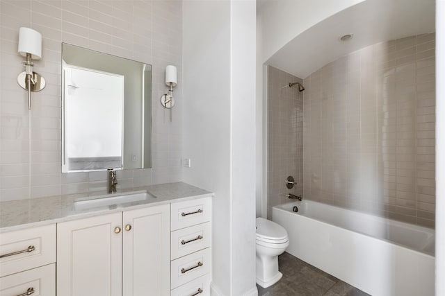
[(23, 295), (31, 289), (33, 296), (56, 295), (55, 263), (0, 278), (0, 296)]

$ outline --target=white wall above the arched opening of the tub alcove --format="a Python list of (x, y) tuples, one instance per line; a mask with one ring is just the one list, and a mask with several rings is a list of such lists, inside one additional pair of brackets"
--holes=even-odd
[(259, 14), (263, 22), (263, 61), (319, 21), (364, 0), (267, 1)]

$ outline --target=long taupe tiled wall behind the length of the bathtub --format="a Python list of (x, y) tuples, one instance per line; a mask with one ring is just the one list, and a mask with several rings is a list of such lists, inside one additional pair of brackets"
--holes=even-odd
[(434, 227), (435, 34), (305, 78), (304, 198)]

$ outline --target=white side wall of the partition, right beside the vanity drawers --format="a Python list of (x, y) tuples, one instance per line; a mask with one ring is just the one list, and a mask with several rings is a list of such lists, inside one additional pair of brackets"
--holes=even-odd
[[(213, 279), (230, 287), (230, 3), (184, 1), (184, 182), (213, 199)], [(206, 24), (202, 26), (202, 24)], [(199, 46), (196, 46), (199, 44)], [(225, 225), (225, 227), (223, 227)]]

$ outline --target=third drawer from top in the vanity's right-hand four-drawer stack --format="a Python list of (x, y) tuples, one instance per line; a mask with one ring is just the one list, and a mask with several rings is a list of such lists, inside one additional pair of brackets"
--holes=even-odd
[(189, 254), (171, 263), (172, 289), (210, 272), (210, 248)]

